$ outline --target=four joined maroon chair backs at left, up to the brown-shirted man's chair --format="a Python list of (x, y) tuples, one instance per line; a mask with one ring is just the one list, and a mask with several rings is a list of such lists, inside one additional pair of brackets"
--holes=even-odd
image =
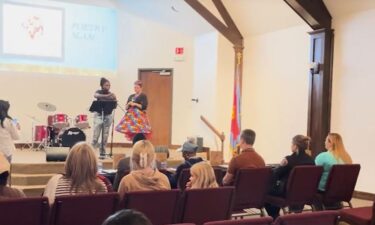
[(49, 207), (45, 197), (0, 201), (1, 225), (100, 225), (118, 209), (143, 212), (153, 225), (226, 220), (231, 217), (233, 187), (140, 191), (56, 197)]

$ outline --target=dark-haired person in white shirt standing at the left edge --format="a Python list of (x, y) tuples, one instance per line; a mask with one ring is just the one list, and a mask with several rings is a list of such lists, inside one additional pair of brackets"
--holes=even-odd
[(16, 149), (14, 140), (20, 138), (20, 125), (9, 116), (9, 108), (8, 101), (0, 100), (0, 153), (11, 163), (12, 153)]

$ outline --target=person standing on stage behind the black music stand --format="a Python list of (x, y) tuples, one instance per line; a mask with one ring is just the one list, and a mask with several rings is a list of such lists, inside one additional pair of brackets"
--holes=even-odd
[[(100, 79), (100, 90), (97, 90), (94, 94), (94, 98), (99, 101), (116, 101), (115, 94), (111, 93), (109, 89), (111, 88), (111, 83), (106, 78), (102, 77)], [(103, 119), (104, 118), (104, 119)], [(101, 113), (94, 112), (94, 133), (92, 136), (92, 146), (94, 148), (99, 148), (100, 155), (105, 156), (105, 146), (107, 145), (107, 140), (109, 136), (109, 129), (112, 124), (113, 116), (112, 113), (104, 113), (102, 118)], [(99, 136), (103, 136), (103, 144), (99, 143)]]

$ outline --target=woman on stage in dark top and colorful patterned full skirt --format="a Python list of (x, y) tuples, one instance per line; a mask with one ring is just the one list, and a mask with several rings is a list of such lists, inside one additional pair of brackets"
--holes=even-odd
[(147, 96), (142, 93), (142, 82), (134, 82), (134, 94), (130, 95), (126, 103), (125, 116), (116, 126), (116, 131), (125, 134), (126, 139), (142, 133), (147, 139), (151, 137), (151, 126), (147, 118), (146, 109), (148, 105)]

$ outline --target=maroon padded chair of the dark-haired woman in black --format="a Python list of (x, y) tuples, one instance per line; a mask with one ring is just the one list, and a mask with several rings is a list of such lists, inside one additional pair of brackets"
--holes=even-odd
[(323, 167), (321, 166), (294, 167), (289, 175), (285, 197), (268, 195), (266, 202), (280, 207), (284, 214), (292, 212), (291, 206), (309, 205), (312, 211), (315, 211), (313, 201), (322, 172)]

